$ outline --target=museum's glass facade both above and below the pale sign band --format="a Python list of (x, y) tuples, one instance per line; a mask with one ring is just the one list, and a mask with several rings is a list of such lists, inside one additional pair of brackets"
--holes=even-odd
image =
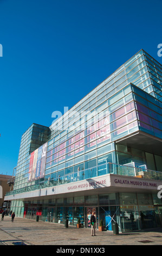
[[(22, 136), (14, 193), (110, 173), (137, 175), (131, 167), (161, 172), (160, 150), (155, 152), (124, 141), (140, 133), (151, 136), (154, 144), (157, 139), (161, 142), (161, 86), (161, 64), (141, 50), (50, 127), (31, 125)], [(44, 145), (47, 145), (46, 151), (43, 151)], [(120, 166), (120, 172), (119, 165), (124, 166)], [(126, 166), (130, 167), (129, 171)], [(160, 174), (158, 177), (162, 179)], [(149, 207), (149, 204), (140, 205), (142, 196), (138, 197), (137, 193), (130, 195), (129, 199), (129, 194), (122, 193), (51, 198), (46, 202), (47, 206), (44, 200), (43, 203), (41, 200), (35, 203), (24, 201), (19, 214), (32, 217), (41, 212), (42, 220), (59, 223), (64, 223), (68, 216), (70, 224), (75, 224), (79, 216), (82, 225), (88, 227), (87, 209), (90, 211), (88, 207), (95, 206), (98, 221), (102, 216), (115, 214), (123, 231), (150, 225), (151, 221), (147, 222), (144, 216), (144, 225), (141, 225), (141, 212), (151, 216), (149, 220), (154, 223), (153, 202)], [(122, 204), (124, 201), (127, 204)], [(12, 202), (13, 207), (17, 207), (15, 203)], [(104, 217), (104, 220), (106, 225), (109, 217)], [(108, 225), (106, 227), (109, 229)]]

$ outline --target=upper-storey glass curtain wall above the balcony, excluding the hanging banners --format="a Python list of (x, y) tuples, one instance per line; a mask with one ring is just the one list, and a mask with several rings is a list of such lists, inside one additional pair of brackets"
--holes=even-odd
[[(106, 174), (106, 164), (116, 163), (114, 141), (138, 129), (161, 138), (161, 68), (141, 50), (49, 128), (30, 126), (22, 136), (14, 190), (83, 179), (83, 170), (86, 178)], [(30, 154), (47, 141), (45, 176), (28, 182)], [(158, 156), (156, 161), (160, 166)]]

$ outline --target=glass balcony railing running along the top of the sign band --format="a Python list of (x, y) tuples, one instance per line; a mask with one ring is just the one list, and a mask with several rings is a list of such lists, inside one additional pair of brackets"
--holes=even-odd
[(162, 180), (162, 172), (157, 172), (155, 170), (148, 170), (139, 168), (139, 167), (132, 167), (128, 165), (116, 164), (116, 163), (105, 163), (101, 164), (100, 166), (96, 166), (93, 168), (89, 168), (86, 170), (78, 170), (75, 173), (71, 173), (64, 176), (59, 176), (55, 179), (48, 179), (40, 182), (39, 184), (25, 186), (18, 190), (7, 192), (6, 196), (11, 194), (18, 194), (28, 191), (40, 190), (41, 188), (46, 187), (53, 187), (62, 184), (67, 184), (70, 182), (81, 181), (85, 179), (94, 178), (97, 176), (105, 175), (105, 174), (118, 174), (123, 176), (136, 176), (139, 178), (147, 178), (147, 179), (154, 179), (154, 180)]

